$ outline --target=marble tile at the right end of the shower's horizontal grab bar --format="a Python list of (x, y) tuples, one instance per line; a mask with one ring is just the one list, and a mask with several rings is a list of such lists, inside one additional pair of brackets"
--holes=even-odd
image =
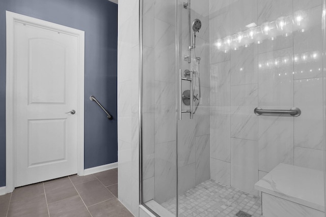
[(322, 150), (322, 79), (295, 80), (294, 106), (302, 111), (294, 118), (294, 145)]

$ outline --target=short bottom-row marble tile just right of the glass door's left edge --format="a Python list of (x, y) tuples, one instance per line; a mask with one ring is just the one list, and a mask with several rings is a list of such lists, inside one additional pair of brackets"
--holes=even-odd
[(178, 192), (182, 195), (196, 186), (196, 164), (189, 164), (178, 168)]

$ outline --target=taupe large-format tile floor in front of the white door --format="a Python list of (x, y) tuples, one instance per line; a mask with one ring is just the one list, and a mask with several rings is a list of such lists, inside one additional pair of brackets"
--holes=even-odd
[(118, 170), (71, 175), (0, 196), (0, 217), (133, 216), (117, 199)]

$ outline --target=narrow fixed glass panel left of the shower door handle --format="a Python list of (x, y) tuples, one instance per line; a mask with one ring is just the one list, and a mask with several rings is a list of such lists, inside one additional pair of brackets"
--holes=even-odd
[(167, 200), (176, 210), (175, 7), (175, 0), (143, 0), (142, 193), (160, 216), (169, 216)]

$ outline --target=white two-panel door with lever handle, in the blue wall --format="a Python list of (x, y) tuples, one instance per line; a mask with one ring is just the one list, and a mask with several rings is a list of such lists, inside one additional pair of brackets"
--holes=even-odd
[(28, 22), (16, 21), (13, 28), (14, 187), (19, 187), (77, 173), (78, 38)]

